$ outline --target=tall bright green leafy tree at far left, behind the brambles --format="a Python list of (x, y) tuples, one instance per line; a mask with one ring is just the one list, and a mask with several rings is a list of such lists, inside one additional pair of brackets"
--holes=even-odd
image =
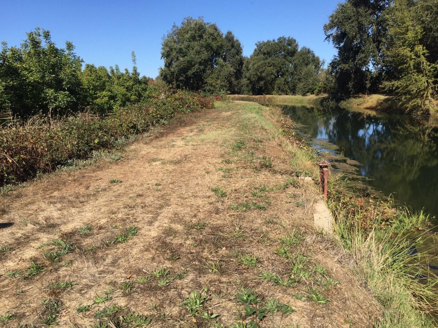
[(81, 65), (71, 42), (57, 48), (50, 32), (40, 28), (28, 32), (20, 48), (7, 48), (3, 43), (1, 108), (30, 115), (77, 107), (81, 100)]

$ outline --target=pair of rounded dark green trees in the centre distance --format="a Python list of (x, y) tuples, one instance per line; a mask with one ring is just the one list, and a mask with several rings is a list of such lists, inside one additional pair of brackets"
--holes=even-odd
[(291, 37), (260, 41), (244, 57), (239, 40), (202, 18), (184, 18), (162, 42), (160, 77), (213, 94), (314, 94), (324, 91), (324, 63)]

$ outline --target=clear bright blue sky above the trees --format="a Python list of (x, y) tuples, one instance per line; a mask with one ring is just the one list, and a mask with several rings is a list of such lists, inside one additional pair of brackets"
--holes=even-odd
[(330, 61), (335, 50), (322, 26), (337, 0), (310, 1), (22, 1), (0, 0), (0, 41), (19, 45), (36, 26), (49, 30), (58, 46), (73, 42), (85, 63), (131, 69), (131, 51), (140, 73), (158, 75), (162, 36), (184, 17), (204, 17), (225, 33), (233, 31), (250, 56), (255, 42), (291, 36)]

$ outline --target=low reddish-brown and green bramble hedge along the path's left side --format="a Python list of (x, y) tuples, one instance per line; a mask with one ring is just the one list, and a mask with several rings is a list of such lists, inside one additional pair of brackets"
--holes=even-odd
[(0, 185), (15, 184), (53, 171), (117, 140), (166, 124), (178, 113), (213, 108), (213, 98), (164, 88), (145, 102), (107, 116), (78, 113), (58, 121), (36, 116), (27, 124), (0, 129)]

